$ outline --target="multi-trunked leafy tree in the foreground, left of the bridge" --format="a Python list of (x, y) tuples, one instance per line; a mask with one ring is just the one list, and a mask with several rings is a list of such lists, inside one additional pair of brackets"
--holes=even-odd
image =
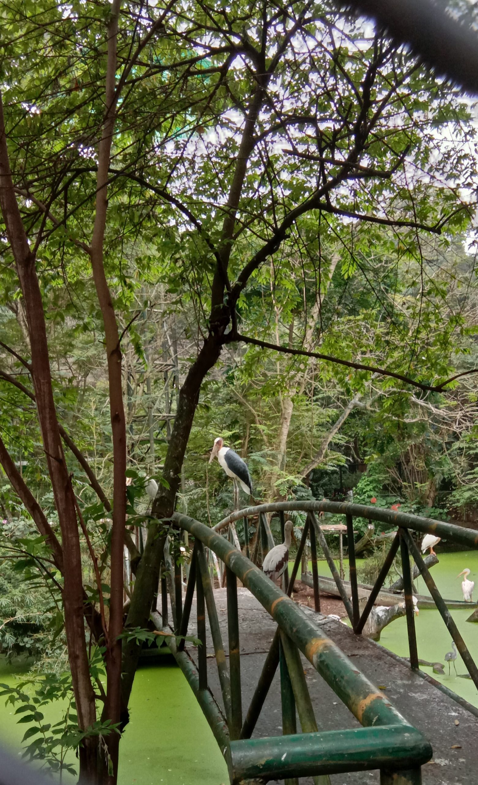
[[(141, 648), (134, 636), (121, 637), (123, 546), (136, 572), (125, 628), (144, 630), (158, 589), (164, 521), (174, 509), (203, 381), (225, 346), (300, 355), (299, 331), (290, 345), (282, 340), (292, 317), (309, 309), (311, 318), (301, 320), (309, 353), (339, 363), (347, 369), (341, 374), (355, 369), (353, 379), (364, 383), (376, 370), (366, 341), (357, 357), (353, 341), (339, 341), (333, 329), (324, 338), (315, 325), (331, 272), (325, 249), (340, 254), (347, 278), (364, 266), (372, 246), (385, 243), (391, 253), (419, 259), (423, 235), (462, 229), (471, 207), (453, 182), (473, 184), (473, 172), (458, 146), (436, 129), (453, 128), (466, 141), (473, 129), (466, 105), (403, 49), (322, 3), (265, 2), (260, 9), (120, 0), (14, 4), (5, 10), (0, 35), (2, 260), (29, 358), (13, 356), (33, 389), (8, 371), (3, 379), (35, 403), (60, 538), (5, 442), (0, 461), (63, 576), (84, 734), (81, 776), (114, 783), (118, 728), (127, 721)], [(391, 232), (385, 240), (384, 227)], [(154, 520), (139, 557), (126, 531), (128, 392), (121, 348), (127, 334), (134, 345), (134, 323), (144, 311), (143, 305), (131, 314), (134, 298), (144, 282), (154, 281), (171, 297), (171, 310), (194, 312), (196, 352), (177, 390)], [(112, 501), (85, 457), (88, 447), (81, 451), (60, 422), (48, 329), (58, 287), (76, 299), (78, 323), (100, 325)], [(369, 287), (379, 296), (373, 280)], [(421, 302), (423, 296), (422, 287)], [(78, 315), (83, 303), (89, 312)], [(280, 314), (278, 327), (269, 319), (271, 308)], [(267, 340), (270, 323), (275, 343)], [(382, 377), (441, 389), (453, 370), (449, 336), (437, 339), (433, 367), (424, 366), (409, 323), (395, 317), (390, 323), (394, 366), (379, 371)], [(389, 343), (379, 329), (375, 337), (387, 366)], [(317, 340), (323, 354), (313, 352)], [(75, 494), (63, 443), (110, 513), (99, 559), (92, 547), (98, 516), (89, 517)], [(83, 585), (85, 550), (96, 576), (94, 598)], [(105, 649), (107, 754), (100, 737), (89, 734), (98, 699), (85, 619)]]

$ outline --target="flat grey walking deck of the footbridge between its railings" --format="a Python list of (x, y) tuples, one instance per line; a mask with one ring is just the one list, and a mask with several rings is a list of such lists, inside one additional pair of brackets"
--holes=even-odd
[[(215, 590), (215, 602), (227, 652), (226, 590)], [(272, 641), (275, 626), (270, 615), (247, 589), (238, 590), (241, 630), (241, 679), (243, 714), (255, 690), (263, 661)], [(302, 608), (328, 634), (397, 709), (429, 739), (433, 760), (422, 768), (423, 785), (476, 785), (478, 783), (478, 717), (461, 707), (438, 688), (412, 673), (400, 660), (379, 644), (353, 634), (344, 624)], [(191, 612), (188, 634), (194, 634), (196, 610)], [(208, 684), (221, 707), (222, 698), (208, 633)], [(197, 649), (186, 647), (196, 660)], [(303, 658), (304, 671), (313, 699), (317, 725), (324, 730), (354, 728), (357, 720), (335, 696), (310, 663)], [(458, 665), (458, 670), (463, 666)], [(458, 725), (456, 724), (458, 721)], [(299, 728), (298, 720), (298, 728)], [(281, 723), (281, 690), (278, 674), (273, 681), (254, 736), (279, 736)], [(378, 772), (341, 774), (331, 777), (332, 785), (367, 785), (378, 783)], [(312, 780), (300, 780), (309, 785)], [(211, 783), (216, 785), (216, 783)], [(218, 783), (219, 785), (219, 783)]]

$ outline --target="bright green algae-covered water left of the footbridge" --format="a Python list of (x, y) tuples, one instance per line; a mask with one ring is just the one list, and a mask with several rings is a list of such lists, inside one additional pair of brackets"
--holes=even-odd
[[(166, 659), (166, 658), (165, 658)], [(0, 682), (13, 685), (27, 668), (0, 659)], [(20, 754), (26, 729), (16, 707), (0, 697), (0, 744)], [(58, 722), (60, 703), (43, 710), (45, 722)], [(229, 777), (211, 729), (182, 672), (171, 663), (139, 668), (130, 701), (131, 721), (120, 745), (119, 785), (222, 785)], [(67, 761), (75, 765), (74, 753)], [(78, 766), (77, 766), (78, 769)], [(77, 778), (63, 775), (71, 785)]]

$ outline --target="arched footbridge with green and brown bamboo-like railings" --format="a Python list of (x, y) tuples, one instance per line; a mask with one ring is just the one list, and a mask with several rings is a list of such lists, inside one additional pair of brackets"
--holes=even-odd
[[(306, 513), (306, 524), (284, 593), (263, 574), (254, 560), (259, 550), (257, 543), (260, 543), (263, 555), (273, 544), (267, 513), (279, 515), (283, 530), (284, 513), (292, 510)], [(317, 513), (322, 511), (346, 517), (350, 578), (347, 585), (335, 568), (320, 528)], [(385, 564), (361, 615), (355, 571), (354, 516), (397, 526)], [(251, 518), (258, 524), (252, 560), (237, 549), (234, 529), (234, 521), (242, 519), (244, 550), (251, 555), (248, 538)], [(167, 633), (174, 630), (178, 636), (169, 639), (172, 654), (212, 728), (228, 765), (232, 785), (269, 781), (298, 785), (299, 778), (306, 778), (302, 782), (318, 785), (378, 780), (381, 785), (418, 785), (422, 783), (422, 767), (426, 772), (425, 783), (447, 782), (435, 776), (438, 766), (426, 765), (433, 752), (436, 756), (436, 750), (429, 743), (433, 736), (435, 747), (448, 746), (448, 757), (453, 747), (461, 750), (459, 755), (469, 754), (470, 758), (475, 758), (478, 710), (463, 700), (457, 703), (458, 696), (441, 685), (433, 685), (433, 679), (418, 670), (409, 555), (414, 558), (444, 617), (469, 676), (478, 686), (478, 670), (473, 658), (412, 536), (413, 531), (436, 532), (442, 538), (476, 548), (478, 535), (475, 531), (376, 507), (337, 502), (280, 502), (249, 507), (233, 513), (215, 529), (179, 513), (175, 514), (173, 522), (179, 531), (187, 532), (190, 542), (194, 539), (186, 593), (183, 594), (179, 565), (175, 564), (172, 575), (165, 571), (161, 577), (161, 613), (154, 613), (153, 619), (158, 630)], [(291, 599), (307, 539), (312, 555), (316, 608), (320, 604), (318, 539), (353, 630), (308, 608), (301, 608)], [(399, 550), (411, 669), (360, 636)], [(219, 573), (224, 572), (223, 589), (214, 588), (209, 554), (214, 554)], [(184, 637), (191, 634), (201, 644), (185, 643)], [(378, 677), (378, 681), (374, 684), (362, 670), (372, 674), (373, 681)], [(401, 689), (397, 689), (398, 683)], [(441, 692), (436, 686), (440, 686)], [(393, 705), (389, 694), (397, 694), (401, 712)], [(419, 710), (431, 707), (428, 725), (425, 715), (422, 717), (419, 711), (417, 715), (417, 706)], [(465, 717), (467, 725), (461, 729), (461, 744), (452, 743), (455, 740), (453, 733), (461, 720), (457, 725), (448, 721), (450, 733), (440, 736), (436, 714), (438, 717), (444, 714)], [(415, 715), (418, 721), (414, 723)], [(422, 727), (418, 730), (415, 725)], [(436, 742), (437, 733), (439, 740)], [(456, 760), (462, 761), (458, 768), (466, 769), (463, 762), (466, 758)], [(470, 764), (476, 771), (476, 760), (470, 760)], [(453, 760), (451, 765), (454, 765)], [(342, 776), (334, 776), (338, 774)], [(449, 781), (462, 782), (455, 778)], [(473, 781), (464, 779), (463, 785)]]

